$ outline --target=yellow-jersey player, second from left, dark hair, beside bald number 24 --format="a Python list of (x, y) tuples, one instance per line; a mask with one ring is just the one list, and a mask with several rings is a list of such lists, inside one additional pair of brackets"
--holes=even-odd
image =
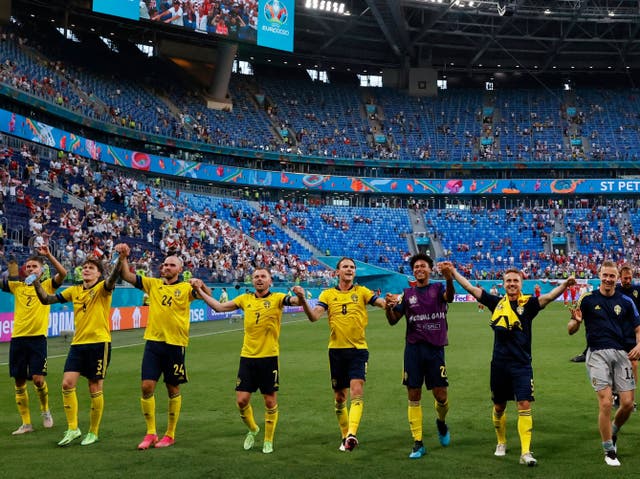
[(62, 376), (62, 404), (68, 429), (58, 446), (68, 446), (82, 435), (78, 428), (76, 394), (80, 376), (87, 378), (91, 394), (89, 432), (80, 444), (89, 446), (98, 441), (104, 411), (103, 383), (111, 360), (111, 293), (116, 286), (119, 270), (120, 265), (117, 264), (109, 277), (103, 280), (104, 265), (97, 258), (90, 257), (82, 264), (82, 284), (51, 295), (47, 294), (40, 281), (34, 282), (42, 304), (73, 303), (75, 331)]

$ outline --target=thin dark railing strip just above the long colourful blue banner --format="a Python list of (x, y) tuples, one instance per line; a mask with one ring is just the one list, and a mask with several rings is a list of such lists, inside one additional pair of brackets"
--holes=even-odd
[[(46, 111), (50, 115), (58, 116), (67, 121), (84, 125), (87, 127), (112, 133), (117, 136), (129, 138), (133, 140), (153, 143), (162, 146), (173, 146), (182, 150), (195, 151), (198, 153), (210, 153), (212, 155), (228, 155), (240, 158), (252, 158), (260, 160), (269, 160), (279, 164), (280, 162), (290, 161), (294, 163), (311, 163), (319, 165), (344, 165), (356, 167), (391, 167), (391, 168), (410, 168), (415, 170), (431, 170), (431, 169), (504, 169), (507, 166), (514, 166), (519, 169), (549, 169), (551, 164), (545, 161), (531, 161), (518, 163), (514, 161), (497, 162), (497, 161), (474, 161), (474, 162), (456, 162), (438, 161), (438, 160), (385, 160), (385, 159), (367, 159), (367, 158), (334, 158), (325, 156), (305, 156), (286, 152), (251, 150), (245, 148), (237, 148), (225, 145), (212, 145), (205, 142), (196, 142), (182, 140), (180, 138), (156, 135), (153, 133), (145, 133), (132, 128), (126, 128), (101, 120), (89, 118), (67, 108), (59, 106), (47, 99), (32, 95), (22, 90), (13, 88), (12, 86), (0, 83), (0, 95), (12, 98), (25, 105), (32, 106), (38, 110)], [(638, 168), (640, 162), (637, 161), (588, 161), (590, 168), (607, 169), (607, 168)], [(556, 160), (553, 162), (555, 169), (575, 169), (584, 168), (585, 162), (575, 161), (572, 159)]]

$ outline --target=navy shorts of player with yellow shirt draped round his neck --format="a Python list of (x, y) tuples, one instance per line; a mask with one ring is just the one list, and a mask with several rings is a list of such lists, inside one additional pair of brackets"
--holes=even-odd
[(534, 401), (531, 364), (491, 361), (491, 399), (494, 404), (507, 401)]

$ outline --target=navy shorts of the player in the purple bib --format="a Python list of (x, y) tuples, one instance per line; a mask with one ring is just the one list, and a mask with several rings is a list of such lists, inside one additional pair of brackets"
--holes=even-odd
[(412, 389), (446, 388), (447, 367), (444, 364), (444, 346), (429, 343), (407, 343), (404, 348), (404, 374), (402, 384)]

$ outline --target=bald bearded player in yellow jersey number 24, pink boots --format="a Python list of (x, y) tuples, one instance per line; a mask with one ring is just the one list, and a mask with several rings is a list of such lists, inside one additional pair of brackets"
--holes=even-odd
[[(176, 427), (182, 409), (180, 384), (188, 381), (185, 365), (186, 347), (189, 344), (190, 305), (198, 299), (193, 285), (202, 281), (191, 278), (180, 281), (183, 263), (178, 256), (168, 256), (160, 266), (160, 278), (149, 278), (132, 273), (129, 269), (129, 246), (118, 244), (115, 250), (121, 259), (122, 279), (149, 295), (149, 319), (144, 332), (146, 340), (142, 356), (142, 414), (147, 432), (138, 444), (139, 450), (150, 447), (163, 448), (175, 443)], [(155, 391), (158, 379), (164, 376), (169, 395), (167, 430), (158, 441), (156, 432)]]

